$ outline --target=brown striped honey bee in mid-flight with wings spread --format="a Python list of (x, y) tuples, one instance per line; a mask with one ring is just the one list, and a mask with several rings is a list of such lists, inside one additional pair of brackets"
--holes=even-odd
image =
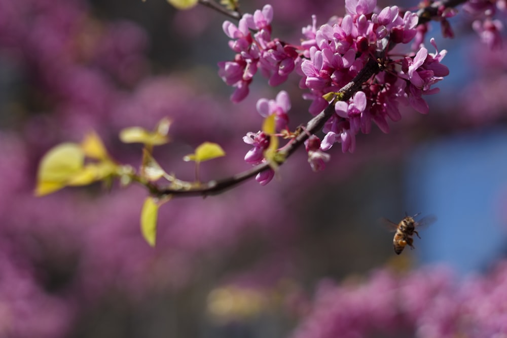
[(394, 238), (392, 239), (392, 246), (394, 247), (394, 252), (396, 254), (399, 255), (402, 253), (403, 249), (405, 249), (407, 245), (410, 246), (411, 249), (414, 249), (414, 234), (416, 234), (417, 237), (421, 238), (415, 229), (421, 226), (429, 226), (431, 223), (437, 220), (437, 217), (435, 216), (425, 216), (419, 221), (414, 220), (414, 217), (418, 215), (420, 215), (420, 212), (416, 213), (414, 216), (409, 216), (406, 214), (406, 216), (398, 224), (384, 218), (389, 226), (396, 232), (394, 234)]

